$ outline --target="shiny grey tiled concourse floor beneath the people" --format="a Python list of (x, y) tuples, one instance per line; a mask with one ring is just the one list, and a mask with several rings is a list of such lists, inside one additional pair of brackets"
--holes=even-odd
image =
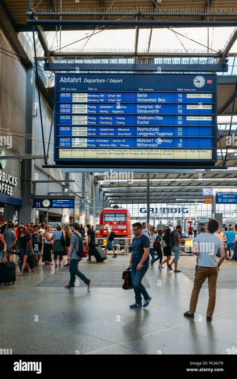
[(158, 262), (149, 267), (143, 283), (151, 302), (133, 310), (133, 290), (121, 288), (129, 257), (108, 255), (99, 264), (86, 259), (79, 270), (92, 279), (89, 292), (81, 281), (74, 290), (63, 288), (67, 267), (54, 269), (40, 260), (37, 275), (18, 277), (16, 263), (15, 284), (0, 286), (0, 348), (12, 349), (12, 354), (225, 355), (236, 347), (237, 262), (221, 265), (213, 320), (207, 322), (207, 282), (194, 320), (183, 316), (189, 308), (195, 257), (180, 256), (181, 273), (166, 267), (160, 272)]

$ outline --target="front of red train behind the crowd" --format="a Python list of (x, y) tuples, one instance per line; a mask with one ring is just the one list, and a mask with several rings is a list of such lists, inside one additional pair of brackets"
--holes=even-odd
[(125, 208), (105, 208), (100, 214), (99, 237), (107, 236), (107, 226), (116, 237), (131, 236), (131, 215)]

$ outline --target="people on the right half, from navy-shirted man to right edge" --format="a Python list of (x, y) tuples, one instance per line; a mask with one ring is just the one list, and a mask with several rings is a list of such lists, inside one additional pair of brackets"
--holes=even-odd
[[(189, 227), (188, 227), (189, 228)], [(132, 240), (132, 254), (130, 256), (129, 267), (131, 268), (131, 279), (135, 293), (135, 303), (130, 305), (130, 309), (142, 307), (142, 296), (144, 298), (143, 308), (147, 307), (151, 301), (146, 289), (142, 285), (149, 264), (159, 261), (159, 270), (162, 271), (163, 265), (166, 263), (167, 270), (172, 270), (174, 264), (174, 272), (180, 273), (177, 269), (179, 259), (179, 247), (182, 241), (181, 226), (177, 225), (174, 230), (166, 227), (164, 231), (155, 230), (154, 227), (147, 228), (146, 223), (132, 224), (134, 238)], [(189, 310), (183, 315), (184, 317), (194, 318), (198, 295), (202, 284), (208, 279), (208, 306), (206, 311), (206, 320), (211, 321), (215, 307), (216, 298), (216, 282), (219, 272), (219, 267), (224, 259), (234, 259), (234, 251), (237, 249), (237, 225), (225, 228), (224, 231), (219, 228), (219, 224), (215, 219), (209, 219), (206, 226), (200, 229), (199, 234), (195, 230), (195, 239), (193, 243), (193, 255), (196, 258), (195, 277), (193, 289), (191, 293)], [(193, 229), (188, 229), (193, 232)], [(226, 247), (224, 247), (226, 245)], [(162, 262), (162, 250), (165, 259)], [(171, 252), (174, 253), (174, 258), (171, 259)], [(157, 258), (154, 254), (157, 254)], [(151, 260), (149, 262), (149, 255)], [(219, 256), (217, 261), (216, 256)]]

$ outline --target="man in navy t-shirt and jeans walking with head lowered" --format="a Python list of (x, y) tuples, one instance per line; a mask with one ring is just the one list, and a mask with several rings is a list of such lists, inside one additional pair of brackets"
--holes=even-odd
[(144, 297), (143, 308), (147, 307), (151, 298), (147, 294), (145, 287), (141, 284), (142, 278), (149, 267), (149, 238), (142, 234), (142, 225), (139, 222), (132, 224), (132, 231), (135, 237), (131, 243), (131, 258), (129, 267), (131, 268), (131, 281), (135, 293), (135, 303), (130, 308), (141, 308), (141, 295)]

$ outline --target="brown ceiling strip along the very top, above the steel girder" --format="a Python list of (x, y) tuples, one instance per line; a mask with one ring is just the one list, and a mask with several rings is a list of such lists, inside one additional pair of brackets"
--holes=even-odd
[[(38, 12), (48, 12), (48, 11), (81, 11), (81, 12), (95, 12), (95, 11), (105, 11), (112, 13), (113, 11), (137, 11), (138, 9), (143, 12), (157, 11), (161, 14), (159, 19), (181, 19), (183, 16), (175, 15), (173, 13), (182, 13), (183, 11), (188, 11), (190, 14), (185, 16), (185, 19), (189, 20), (202, 20), (203, 15), (196, 15), (195, 13), (201, 13), (203, 10), (207, 11), (207, 0), (62, 0), (60, 8), (60, 0), (5, 0), (5, 4), (9, 9), (11, 16), (14, 19), (15, 24), (25, 25), (26, 17), (25, 11), (27, 8), (35, 8)], [(157, 5), (157, 6), (156, 6)], [(222, 8), (222, 11), (221, 11)], [(228, 15), (213, 15), (210, 16), (210, 20), (218, 19), (236, 19), (235, 15), (231, 16), (231, 12), (236, 12), (236, 1), (235, 0), (209, 0), (209, 10), (214, 11), (219, 9), (220, 13), (226, 13)], [(166, 12), (166, 15), (162, 15), (162, 12)], [(192, 13), (192, 14), (191, 14)], [(229, 15), (230, 13), (230, 15)], [(54, 16), (38, 16), (38, 18), (44, 19), (55, 19)], [(78, 19), (78, 16), (62, 16), (62, 19)], [(80, 15), (80, 19), (101, 19), (100, 15)], [(116, 15), (106, 15), (103, 19), (117, 19)]]

